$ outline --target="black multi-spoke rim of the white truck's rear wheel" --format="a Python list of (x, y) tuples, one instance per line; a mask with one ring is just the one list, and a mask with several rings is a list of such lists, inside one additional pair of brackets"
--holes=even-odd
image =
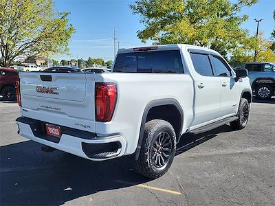
[(153, 141), (151, 150), (151, 158), (156, 168), (161, 169), (167, 165), (172, 154), (172, 148), (170, 135), (166, 132), (159, 133)]

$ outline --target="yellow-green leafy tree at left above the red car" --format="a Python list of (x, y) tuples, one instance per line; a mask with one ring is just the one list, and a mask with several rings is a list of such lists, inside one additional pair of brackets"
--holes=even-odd
[(56, 12), (52, 0), (0, 0), (0, 66), (15, 58), (68, 52), (75, 32), (68, 12)]

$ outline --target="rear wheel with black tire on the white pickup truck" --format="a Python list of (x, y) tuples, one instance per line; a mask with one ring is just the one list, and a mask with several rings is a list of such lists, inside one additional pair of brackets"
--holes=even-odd
[(133, 168), (143, 176), (157, 179), (170, 168), (175, 151), (173, 126), (162, 119), (153, 119), (145, 124), (140, 156), (137, 160), (133, 159)]

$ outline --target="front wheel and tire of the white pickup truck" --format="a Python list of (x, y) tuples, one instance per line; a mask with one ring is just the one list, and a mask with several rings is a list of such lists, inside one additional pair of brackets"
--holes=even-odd
[(248, 117), (250, 113), (250, 104), (248, 100), (245, 98), (241, 98), (241, 102), (239, 105), (239, 110), (237, 116), (239, 119), (236, 119), (233, 122), (230, 122), (230, 126), (234, 130), (241, 130), (245, 128), (246, 124), (248, 124)]

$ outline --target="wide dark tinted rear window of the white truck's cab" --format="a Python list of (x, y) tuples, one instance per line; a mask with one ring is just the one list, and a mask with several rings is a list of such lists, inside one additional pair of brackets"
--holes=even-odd
[(118, 54), (113, 72), (184, 73), (179, 50)]

